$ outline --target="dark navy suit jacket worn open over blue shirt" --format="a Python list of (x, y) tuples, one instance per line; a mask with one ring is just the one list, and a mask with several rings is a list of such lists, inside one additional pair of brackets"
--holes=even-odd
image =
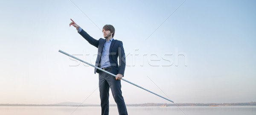
[[(99, 40), (94, 39), (89, 34), (87, 34), (83, 29), (79, 33), (81, 36), (84, 37), (91, 45), (98, 48), (98, 55), (96, 59), (95, 66), (99, 67), (100, 65), (100, 57), (102, 54), (102, 50), (104, 47), (104, 44), (106, 42), (105, 39), (100, 38)], [(119, 65), (117, 61), (117, 57), (119, 57)], [(110, 48), (109, 48), (109, 62), (111, 65), (111, 70), (113, 74), (122, 74), (124, 76), (125, 73), (125, 50), (122, 45), (122, 41), (115, 40), (111, 42)], [(94, 73), (99, 73), (100, 70), (96, 69), (94, 70)]]

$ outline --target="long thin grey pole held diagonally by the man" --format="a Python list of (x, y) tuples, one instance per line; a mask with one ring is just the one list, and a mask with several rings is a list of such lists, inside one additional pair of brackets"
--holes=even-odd
[[(72, 57), (72, 58), (74, 58), (74, 59), (77, 59), (77, 60), (79, 60), (79, 61), (81, 61), (81, 62), (84, 62), (84, 63), (86, 63), (87, 65), (90, 65), (90, 66), (92, 66), (92, 67), (95, 67), (95, 68), (97, 68), (97, 69), (99, 69), (99, 70), (101, 70), (101, 71), (104, 71), (105, 73), (108, 73), (108, 74), (110, 74), (110, 75), (116, 77), (116, 75), (114, 75), (113, 73), (110, 73), (110, 72), (108, 72), (108, 71), (106, 71), (106, 70), (103, 70), (102, 68), (96, 67), (95, 65), (92, 65), (92, 64), (90, 64), (90, 63), (88, 63), (88, 62), (85, 62), (85, 61), (83, 61), (83, 60), (81, 60), (81, 59), (79, 59), (79, 58), (77, 58), (77, 57), (75, 57), (75, 56), (72, 56), (72, 55), (70, 55), (70, 54), (68, 54), (68, 53), (66, 53), (66, 52), (64, 52), (64, 51), (62, 51), (62, 50), (59, 50), (59, 52), (65, 54), (65, 55), (67, 55), (67, 56), (70, 56), (70, 57)], [(137, 86), (137, 87), (140, 87), (140, 86), (138, 86), (137, 84), (134, 84), (134, 83), (132, 83), (132, 82), (130, 82), (130, 81), (127, 81), (127, 80), (125, 80), (125, 79), (123, 79), (123, 78), (122, 78), (122, 80), (123, 80), (123, 81), (126, 81), (126, 82), (128, 82), (128, 83), (130, 83), (130, 84), (133, 84), (133, 85), (135, 85), (135, 86)], [(150, 90), (147, 90), (147, 89), (145, 89), (145, 88), (143, 88), (143, 87), (140, 87), (140, 88), (143, 89), (143, 90), (146, 90), (146, 91), (148, 91), (148, 92), (150, 92), (150, 93), (153, 93), (153, 92), (151, 92)], [(159, 96), (159, 97), (161, 97), (161, 98), (164, 98), (163, 96), (160, 96), (160, 95), (158, 95), (158, 94), (156, 94), (156, 93), (153, 93), (153, 94), (154, 94), (154, 95), (157, 95), (157, 96)], [(166, 99), (166, 100), (168, 100), (168, 101), (171, 101), (171, 100), (169, 100), (169, 99), (167, 99), (167, 98), (164, 98), (164, 99)], [(174, 103), (173, 101), (171, 101), (171, 102)]]

